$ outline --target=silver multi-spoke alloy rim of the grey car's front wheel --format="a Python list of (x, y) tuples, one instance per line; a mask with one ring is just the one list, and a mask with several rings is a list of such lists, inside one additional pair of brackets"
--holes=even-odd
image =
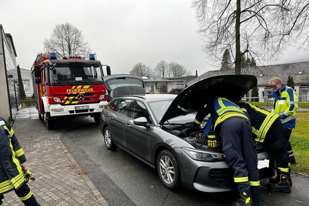
[(160, 174), (164, 182), (167, 184), (172, 184), (175, 178), (174, 165), (172, 161), (167, 156), (162, 156), (160, 158), (159, 164)]

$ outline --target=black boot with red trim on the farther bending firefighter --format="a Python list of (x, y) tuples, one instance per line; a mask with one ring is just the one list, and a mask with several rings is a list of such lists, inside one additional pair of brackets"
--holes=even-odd
[(290, 193), (292, 191), (291, 185), (288, 180), (288, 172), (282, 172), (277, 170), (277, 177), (274, 183), (268, 183), (267, 188), (276, 191), (276, 192), (287, 192)]

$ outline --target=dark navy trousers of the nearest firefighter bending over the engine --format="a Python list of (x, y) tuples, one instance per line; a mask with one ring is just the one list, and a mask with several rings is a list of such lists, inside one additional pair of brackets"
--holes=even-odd
[[(252, 186), (255, 191), (253, 201), (260, 200), (259, 173), (257, 169), (257, 153), (254, 148), (251, 125), (248, 120), (233, 117), (221, 124), (220, 136), (222, 138), (223, 152), (230, 167), (234, 169), (235, 178), (247, 177), (247, 181), (237, 183), (238, 191), (250, 190), (250, 182), (258, 183)], [(250, 181), (250, 182), (249, 182)]]

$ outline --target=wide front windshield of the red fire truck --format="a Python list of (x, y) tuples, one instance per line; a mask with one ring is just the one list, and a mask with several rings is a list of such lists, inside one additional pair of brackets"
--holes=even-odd
[(62, 65), (56, 65), (54, 67), (56, 73), (52, 70), (49, 71), (49, 77), (51, 82), (63, 81), (86, 81), (91, 80), (95, 82), (101, 82), (103, 73), (101, 66), (91, 65), (91, 66), (70, 66), (62, 67)]

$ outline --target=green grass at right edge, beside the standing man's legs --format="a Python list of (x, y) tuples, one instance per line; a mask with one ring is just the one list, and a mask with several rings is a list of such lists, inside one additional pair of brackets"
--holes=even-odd
[(290, 142), (297, 164), (291, 164), (292, 170), (309, 174), (309, 112), (296, 112), (296, 129), (292, 130)]

